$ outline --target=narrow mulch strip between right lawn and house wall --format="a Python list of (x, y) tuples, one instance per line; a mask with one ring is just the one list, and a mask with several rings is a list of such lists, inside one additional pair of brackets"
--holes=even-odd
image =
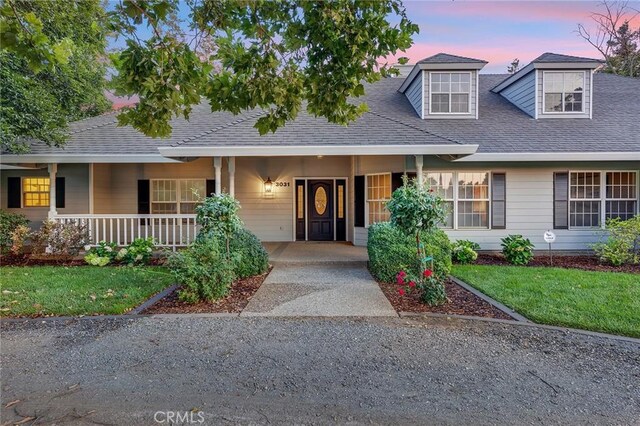
[[(474, 262), (476, 265), (511, 265), (500, 254), (482, 253), (478, 255), (478, 259)], [(640, 266), (638, 265), (622, 265), (612, 266), (600, 263), (595, 256), (553, 256), (553, 265), (548, 255), (536, 255), (527, 266), (553, 266), (555, 268), (571, 268), (582, 269), (585, 271), (602, 271), (602, 272), (628, 272), (632, 274), (640, 274)]]

